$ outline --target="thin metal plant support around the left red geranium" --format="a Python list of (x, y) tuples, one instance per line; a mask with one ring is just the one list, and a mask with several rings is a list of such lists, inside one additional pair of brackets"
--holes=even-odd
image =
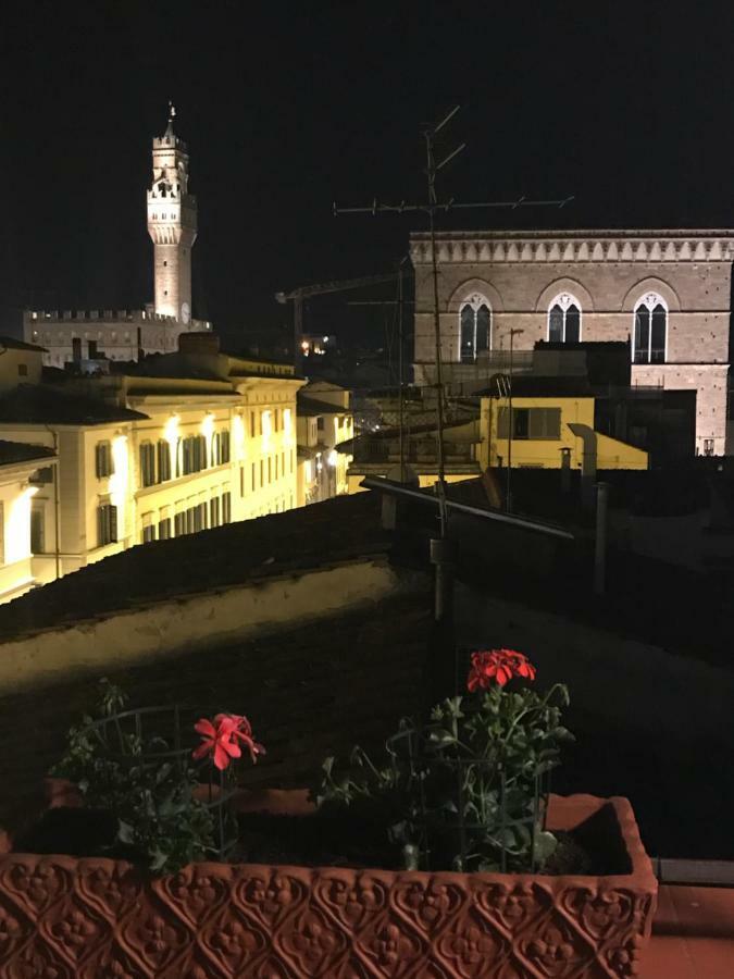
[(236, 790), (232, 766), (220, 771), (209, 761), (191, 759), (191, 753), (199, 744), (194, 724), (200, 717), (215, 712), (220, 710), (208, 712), (177, 704), (139, 707), (95, 720), (84, 730), (101, 743), (107, 759), (121, 767), (139, 766), (150, 773), (151, 780), (165, 763), (173, 765), (182, 776), (192, 767), (200, 772), (199, 784), (204, 796), (200, 801), (214, 817), (215, 853), (220, 860), (226, 860), (237, 843), (237, 822), (229, 808)]

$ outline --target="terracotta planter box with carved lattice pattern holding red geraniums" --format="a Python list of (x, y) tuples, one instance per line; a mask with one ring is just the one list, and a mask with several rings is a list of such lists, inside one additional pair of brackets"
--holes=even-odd
[[(302, 794), (277, 798), (281, 811), (302, 808)], [(1, 975), (632, 976), (650, 932), (657, 882), (626, 800), (552, 797), (549, 828), (589, 819), (609, 826), (629, 873), (195, 864), (151, 881), (123, 862), (0, 855)]]

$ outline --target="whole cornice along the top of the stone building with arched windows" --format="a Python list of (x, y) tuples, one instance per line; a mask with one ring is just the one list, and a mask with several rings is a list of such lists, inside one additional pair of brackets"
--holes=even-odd
[[(439, 263), (731, 262), (734, 230), (445, 232), (436, 237)], [(431, 238), (410, 236), (414, 265), (431, 261)]]

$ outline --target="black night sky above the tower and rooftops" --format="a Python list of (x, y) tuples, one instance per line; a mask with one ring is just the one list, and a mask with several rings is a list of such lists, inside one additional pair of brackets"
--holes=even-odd
[(151, 299), (145, 191), (169, 99), (199, 199), (195, 314), (232, 345), (285, 322), (277, 289), (405, 252), (422, 218), (334, 219), (332, 201), (424, 199), (421, 124), (455, 102), (445, 145), (468, 149), (439, 190), (576, 200), (444, 226), (732, 226), (734, 9), (708, 7), (7, 8), (0, 329), (17, 334), (23, 306)]

